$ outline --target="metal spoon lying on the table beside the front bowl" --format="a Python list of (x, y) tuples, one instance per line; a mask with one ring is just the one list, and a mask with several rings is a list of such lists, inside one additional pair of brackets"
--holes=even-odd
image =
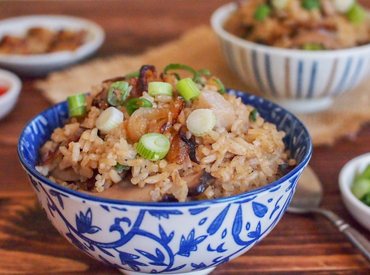
[(319, 207), (323, 198), (323, 187), (315, 172), (308, 166), (303, 171), (295, 194), (287, 208), (288, 213), (319, 213), (328, 218), (347, 238), (361, 250), (370, 262), (370, 242), (360, 232), (347, 224), (333, 211)]

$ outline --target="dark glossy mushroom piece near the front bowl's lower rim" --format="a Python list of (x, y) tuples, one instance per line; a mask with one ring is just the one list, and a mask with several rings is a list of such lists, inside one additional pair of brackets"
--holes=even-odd
[(202, 170), (196, 174), (182, 178), (188, 185), (188, 197), (194, 197), (202, 194), (207, 187), (211, 186), (216, 178), (210, 173)]

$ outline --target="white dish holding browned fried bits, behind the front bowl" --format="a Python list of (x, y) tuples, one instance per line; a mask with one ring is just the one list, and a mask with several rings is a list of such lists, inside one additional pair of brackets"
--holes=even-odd
[(64, 15), (32, 15), (13, 17), (0, 22), (0, 39), (5, 34), (22, 36), (31, 27), (51, 30), (71, 29), (87, 31), (87, 40), (74, 51), (45, 54), (0, 54), (0, 66), (24, 76), (44, 76), (62, 69), (93, 54), (102, 45), (105, 33), (98, 24), (77, 17)]

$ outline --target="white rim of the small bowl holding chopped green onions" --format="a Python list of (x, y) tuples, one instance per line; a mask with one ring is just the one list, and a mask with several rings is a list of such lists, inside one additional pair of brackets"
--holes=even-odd
[[(362, 203), (351, 191), (354, 175), (359, 169), (359, 166), (364, 163), (370, 164), (370, 152), (359, 155), (347, 162), (339, 173), (338, 181), (342, 196), (345, 197), (356, 208), (370, 214), (370, 206)], [(349, 180), (349, 178), (351, 178), (351, 180)]]

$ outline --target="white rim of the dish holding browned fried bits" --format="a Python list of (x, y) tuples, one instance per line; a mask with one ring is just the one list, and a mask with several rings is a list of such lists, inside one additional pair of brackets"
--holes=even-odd
[[(39, 21), (39, 23), (30, 23), (34, 20)], [(51, 53), (28, 55), (0, 53), (0, 63), (9, 65), (47, 65), (65, 62), (66, 60), (78, 59), (82, 56), (85, 56), (86, 54), (93, 52), (94, 50), (98, 49), (104, 42), (105, 31), (99, 24), (86, 18), (70, 15), (39, 14), (9, 17), (1, 20), (0, 31), (3, 26), (11, 23), (23, 24), (25, 29), (34, 25), (48, 28), (46, 23), (51, 21), (53, 23), (56, 22), (57, 24), (60, 24), (60, 27), (68, 27), (70, 24), (78, 26), (79, 29), (85, 29), (88, 32), (88, 35), (90, 35), (92, 38), (73, 51), (63, 50)]]

